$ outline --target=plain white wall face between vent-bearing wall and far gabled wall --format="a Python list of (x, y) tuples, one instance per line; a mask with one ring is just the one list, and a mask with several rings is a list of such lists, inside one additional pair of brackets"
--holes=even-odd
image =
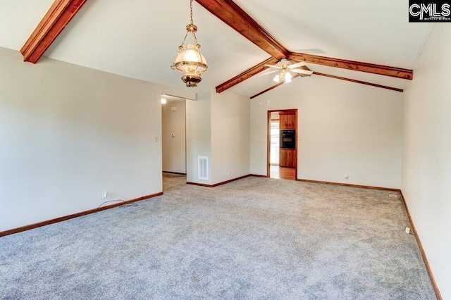
[(211, 92), (212, 183), (249, 174), (249, 97)]

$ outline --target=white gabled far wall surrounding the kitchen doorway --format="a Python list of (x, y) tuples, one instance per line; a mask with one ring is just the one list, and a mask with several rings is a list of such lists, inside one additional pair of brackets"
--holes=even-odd
[(299, 179), (400, 188), (402, 97), (314, 75), (272, 89), (251, 100), (250, 172), (266, 175), (267, 111), (297, 108)]

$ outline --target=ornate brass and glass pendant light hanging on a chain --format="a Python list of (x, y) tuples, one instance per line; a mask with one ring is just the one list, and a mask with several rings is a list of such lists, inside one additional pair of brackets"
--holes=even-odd
[[(171, 65), (173, 70), (183, 73), (182, 80), (187, 87), (197, 87), (201, 82), (201, 74), (206, 72), (206, 60), (200, 53), (200, 45), (197, 43), (196, 32), (197, 26), (192, 22), (192, 0), (190, 0), (191, 22), (186, 25), (185, 39), (178, 46), (178, 54)], [(192, 44), (185, 44), (188, 34), (192, 35)]]

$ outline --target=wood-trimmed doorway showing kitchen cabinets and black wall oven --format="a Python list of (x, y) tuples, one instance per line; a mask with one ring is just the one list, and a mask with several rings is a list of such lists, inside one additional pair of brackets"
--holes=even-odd
[(297, 109), (268, 111), (267, 176), (297, 179)]

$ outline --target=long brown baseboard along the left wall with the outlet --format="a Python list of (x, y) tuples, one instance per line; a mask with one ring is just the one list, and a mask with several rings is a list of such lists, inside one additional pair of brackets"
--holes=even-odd
[(50, 225), (50, 224), (54, 224), (54, 223), (58, 223), (58, 222), (62, 222), (62, 221), (66, 221), (66, 220), (70, 220), (73, 218), (78, 218), (81, 217), (82, 215), (89, 215), (91, 213), (97, 213), (98, 211), (105, 211), (106, 209), (110, 209), (110, 208), (115, 208), (118, 206), (123, 206), (126, 204), (130, 204), (133, 202), (137, 202), (137, 201), (141, 201), (144, 199), (149, 199), (149, 198), (153, 198), (155, 196), (161, 196), (163, 194), (163, 192), (159, 192), (156, 194), (150, 194), (147, 196), (142, 196), (140, 198), (135, 198), (135, 199), (131, 199), (128, 201), (124, 201), (118, 204), (113, 204), (113, 205), (109, 205), (109, 206), (104, 206), (101, 208), (96, 208), (96, 209), (89, 209), (89, 211), (82, 211), (80, 213), (73, 213), (72, 215), (65, 215), (63, 217), (59, 217), (59, 218), (55, 218), (55, 219), (51, 219), (51, 220), (47, 220), (47, 221), (43, 221), (43, 222), (39, 222), (39, 223), (34, 223), (31, 225), (25, 225), (22, 227), (17, 227), (17, 228), (13, 228), (10, 230), (6, 230), (6, 231), (2, 231), (0, 232), (0, 237), (5, 237), (6, 235), (13, 235), (14, 233), (18, 233), (18, 232), (23, 232), (25, 230), (31, 230), (31, 229), (35, 229), (37, 227), (42, 227), (42, 226), (46, 226), (46, 225)]

